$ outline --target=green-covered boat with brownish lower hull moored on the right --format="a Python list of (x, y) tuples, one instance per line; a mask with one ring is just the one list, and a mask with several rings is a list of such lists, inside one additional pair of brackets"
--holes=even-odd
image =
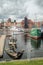
[(30, 37), (33, 39), (40, 39), (41, 38), (41, 30), (38, 28), (33, 28), (30, 32)]

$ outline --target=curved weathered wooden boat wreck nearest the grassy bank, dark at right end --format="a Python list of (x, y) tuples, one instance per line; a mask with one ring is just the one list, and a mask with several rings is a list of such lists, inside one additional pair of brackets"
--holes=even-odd
[(16, 52), (16, 51), (13, 52), (10, 49), (6, 49), (5, 51), (13, 59), (20, 59), (24, 53), (24, 50), (22, 50), (20, 52)]

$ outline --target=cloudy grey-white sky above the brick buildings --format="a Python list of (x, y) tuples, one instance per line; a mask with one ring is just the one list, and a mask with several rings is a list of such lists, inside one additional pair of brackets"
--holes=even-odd
[(0, 19), (43, 20), (43, 0), (0, 0)]

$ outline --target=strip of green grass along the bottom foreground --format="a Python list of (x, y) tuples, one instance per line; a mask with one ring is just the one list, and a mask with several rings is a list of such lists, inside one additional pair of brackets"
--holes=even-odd
[(43, 60), (2, 62), (0, 65), (43, 65)]

